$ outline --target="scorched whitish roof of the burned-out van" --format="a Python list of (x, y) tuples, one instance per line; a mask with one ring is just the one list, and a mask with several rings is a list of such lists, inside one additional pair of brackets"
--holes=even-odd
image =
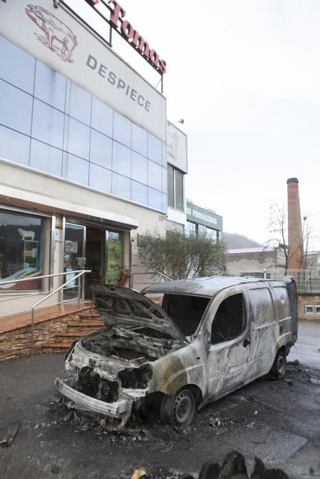
[[(272, 283), (281, 283), (284, 281), (272, 281)], [(208, 296), (211, 298), (221, 289), (226, 287), (242, 285), (245, 283), (270, 283), (270, 280), (260, 278), (240, 278), (235, 276), (209, 276), (206, 278), (182, 279), (180, 281), (169, 281), (167, 283), (157, 283), (143, 289), (143, 294), (194, 294), (197, 296)]]

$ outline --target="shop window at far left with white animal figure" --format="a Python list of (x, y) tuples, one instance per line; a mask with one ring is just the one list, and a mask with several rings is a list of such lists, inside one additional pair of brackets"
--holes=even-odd
[[(40, 289), (45, 220), (0, 210), (0, 292)], [(5, 281), (29, 279), (22, 283)]]

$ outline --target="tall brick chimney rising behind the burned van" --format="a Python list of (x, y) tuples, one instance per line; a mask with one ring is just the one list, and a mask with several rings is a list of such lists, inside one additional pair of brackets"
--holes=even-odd
[(288, 269), (303, 268), (304, 242), (302, 238), (299, 181), (289, 178), (286, 181), (288, 188)]

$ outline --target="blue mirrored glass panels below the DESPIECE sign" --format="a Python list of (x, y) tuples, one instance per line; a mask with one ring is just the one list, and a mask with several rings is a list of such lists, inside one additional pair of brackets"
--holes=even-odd
[(165, 144), (3, 36), (0, 157), (167, 211)]

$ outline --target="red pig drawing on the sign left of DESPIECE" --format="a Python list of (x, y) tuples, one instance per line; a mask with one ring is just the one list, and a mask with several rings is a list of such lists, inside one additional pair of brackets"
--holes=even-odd
[(37, 35), (38, 40), (57, 53), (64, 62), (73, 62), (71, 55), (77, 46), (77, 37), (71, 29), (38, 5), (27, 5), (25, 12), (45, 34), (45, 37)]

